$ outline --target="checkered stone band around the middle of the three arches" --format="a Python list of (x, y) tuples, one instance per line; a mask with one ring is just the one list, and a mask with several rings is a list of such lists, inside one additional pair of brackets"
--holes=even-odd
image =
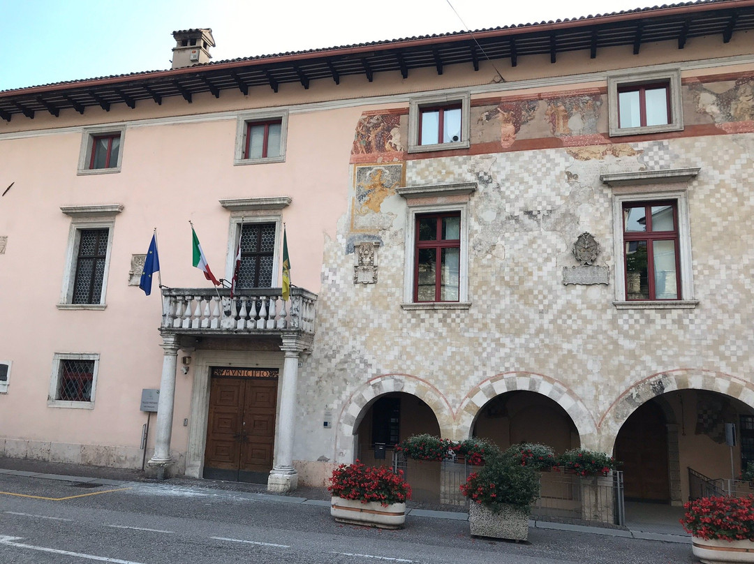
[(575, 391), (550, 376), (535, 372), (501, 372), (472, 388), (458, 408), (457, 425), (461, 438), (471, 436), (474, 423), (489, 400), (509, 391), (533, 391), (549, 397), (570, 416), (581, 446), (591, 448), (590, 445), (596, 442), (595, 418)]

